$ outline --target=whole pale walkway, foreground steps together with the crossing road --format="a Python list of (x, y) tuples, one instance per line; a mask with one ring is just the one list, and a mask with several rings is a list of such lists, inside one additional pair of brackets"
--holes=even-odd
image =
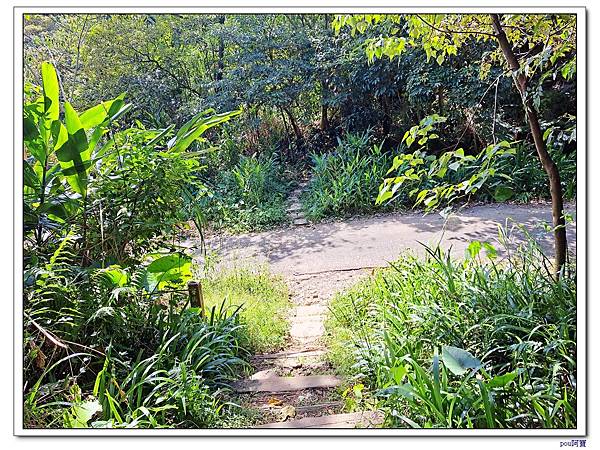
[[(312, 225), (299, 207), (300, 189), (290, 197), (289, 228), (207, 242), (221, 255), (223, 266), (267, 263), (290, 287), (293, 308), (287, 347), (276, 354), (256, 355), (252, 361), (256, 373), (235, 385), (242, 401), (261, 411), (263, 427), (352, 428), (381, 420), (374, 412), (343, 413), (342, 380), (324, 359), (321, 338), (331, 297), (397, 259), (402, 251), (423, 254), (420, 243), (439, 243), (461, 257), (473, 240), (489, 241), (500, 250), (498, 226), (508, 224), (515, 243), (524, 238), (514, 225), (519, 223), (552, 254), (552, 235), (542, 226), (551, 223), (549, 204), (475, 206), (447, 222), (435, 213), (397, 213)], [(567, 205), (573, 216), (574, 209)], [(574, 252), (575, 222), (568, 225), (567, 235)]]

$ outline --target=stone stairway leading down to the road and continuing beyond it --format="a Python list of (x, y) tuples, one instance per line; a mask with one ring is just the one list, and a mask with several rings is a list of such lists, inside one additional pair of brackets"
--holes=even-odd
[[(299, 202), (303, 187), (291, 194), (288, 209), (297, 226), (308, 224)], [(377, 412), (344, 412), (343, 380), (325, 359), (321, 339), (331, 297), (323, 292), (342, 289), (358, 276), (360, 270), (288, 278), (294, 307), (286, 348), (255, 355), (251, 363), (256, 372), (233, 384), (242, 403), (260, 412), (257, 428), (367, 428), (381, 423)]]

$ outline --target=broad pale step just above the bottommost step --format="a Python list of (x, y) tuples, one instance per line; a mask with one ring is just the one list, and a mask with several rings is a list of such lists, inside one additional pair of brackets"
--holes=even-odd
[(240, 380), (233, 383), (236, 392), (293, 392), (304, 389), (333, 388), (342, 380), (333, 375), (309, 375), (298, 377), (269, 377), (259, 380)]

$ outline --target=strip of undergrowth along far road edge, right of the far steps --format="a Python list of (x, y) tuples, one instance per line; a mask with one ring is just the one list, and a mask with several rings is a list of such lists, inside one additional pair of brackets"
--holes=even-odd
[[(312, 178), (302, 196), (309, 219), (441, 208), (453, 201), (526, 203), (550, 198), (535, 149), (523, 142), (506, 143), (506, 148), (492, 145), (475, 157), (462, 149), (436, 156), (426, 146), (409, 153), (405, 143), (386, 151), (383, 143), (372, 141), (369, 131), (346, 134), (330, 153), (312, 155)], [(572, 200), (577, 193), (576, 155), (559, 145), (548, 148), (561, 173), (564, 198)]]

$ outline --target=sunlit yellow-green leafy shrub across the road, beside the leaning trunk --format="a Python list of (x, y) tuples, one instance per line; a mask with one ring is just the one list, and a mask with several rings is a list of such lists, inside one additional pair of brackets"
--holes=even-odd
[[(506, 140), (493, 143), (477, 155), (464, 149), (439, 155), (429, 152), (429, 142), (439, 138), (435, 126), (446, 121), (437, 114), (425, 117), (404, 135), (400, 152), (394, 157), (377, 196), (377, 204), (405, 204), (434, 209), (456, 201), (483, 200), (505, 202), (549, 198), (548, 177), (535, 151), (525, 143)], [(550, 128), (548, 131), (553, 131)], [(560, 143), (547, 137), (549, 153), (561, 172), (564, 196), (574, 198), (576, 190), (576, 155), (565, 153)], [(408, 153), (414, 143), (419, 148)]]

